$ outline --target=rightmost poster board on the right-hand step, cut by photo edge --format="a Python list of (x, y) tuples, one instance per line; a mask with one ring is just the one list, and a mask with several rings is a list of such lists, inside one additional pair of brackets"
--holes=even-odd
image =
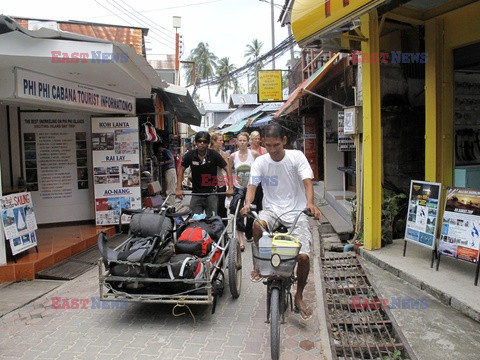
[(477, 263), (480, 251), (480, 190), (447, 188), (439, 251)]

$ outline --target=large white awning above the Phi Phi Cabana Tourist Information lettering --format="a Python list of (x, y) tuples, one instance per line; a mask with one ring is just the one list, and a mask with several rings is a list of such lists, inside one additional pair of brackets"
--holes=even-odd
[[(54, 56), (64, 53), (90, 55), (68, 62)], [(122, 54), (122, 58), (103, 62), (93, 59), (92, 53)], [(15, 68), (21, 68), (135, 98), (150, 97), (152, 87), (167, 85), (147, 60), (128, 45), (45, 28), (31, 31), (4, 15), (0, 15), (0, 58), (0, 73), (9, 77), (13, 77)], [(4, 78), (2, 82), (3, 86), (10, 86)]]

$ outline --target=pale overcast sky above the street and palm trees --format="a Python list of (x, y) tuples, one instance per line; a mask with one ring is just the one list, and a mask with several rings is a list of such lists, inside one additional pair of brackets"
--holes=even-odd
[[(282, 28), (277, 21), (283, 3), (283, 0), (274, 1), (276, 45), (288, 37), (286, 27)], [(262, 54), (272, 48), (270, 0), (14, 0), (3, 2), (1, 12), (36, 19), (146, 27), (150, 29), (146, 39), (147, 56), (152, 59), (174, 53), (173, 16), (181, 17), (178, 31), (184, 43), (182, 59), (186, 59), (199, 42), (206, 42), (219, 58), (229, 57), (231, 63), (241, 67), (246, 60), (245, 47), (253, 39), (263, 42)], [(278, 59), (275, 67), (286, 69), (287, 60), (288, 54)], [(271, 68), (271, 65), (267, 67)], [(246, 79), (242, 85), (246, 88)], [(203, 100), (208, 101), (205, 90), (200, 94)]]

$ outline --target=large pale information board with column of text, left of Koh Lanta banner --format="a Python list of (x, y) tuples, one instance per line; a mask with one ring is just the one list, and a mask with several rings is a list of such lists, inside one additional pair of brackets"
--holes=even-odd
[(22, 112), (25, 182), (38, 224), (93, 218), (90, 116)]

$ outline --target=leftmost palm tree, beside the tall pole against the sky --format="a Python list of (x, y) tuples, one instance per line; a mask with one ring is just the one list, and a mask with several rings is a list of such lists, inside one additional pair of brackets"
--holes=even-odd
[[(195, 63), (195, 79), (193, 66), (185, 67), (185, 78), (188, 84), (194, 83), (197, 85), (200, 80), (208, 80), (215, 73), (214, 67), (216, 66), (217, 57), (208, 49), (208, 43), (200, 42), (197, 47), (190, 51), (190, 55), (187, 58), (188, 61)], [(210, 85), (208, 86), (208, 96), (211, 102)]]

